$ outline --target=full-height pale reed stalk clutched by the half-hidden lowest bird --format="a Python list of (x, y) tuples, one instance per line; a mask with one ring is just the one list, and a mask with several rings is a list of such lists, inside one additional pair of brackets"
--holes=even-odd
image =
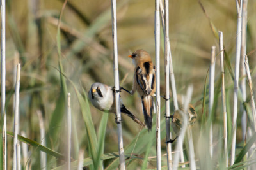
[[(162, 0), (161, 0), (162, 1)], [(170, 58), (169, 58), (169, 1), (164, 0), (164, 58), (165, 58), (165, 115), (166, 115), (166, 141), (170, 140), (170, 94), (169, 94), (169, 67), (170, 67)], [(172, 147), (171, 143), (166, 143), (166, 152), (167, 152), (167, 166), (168, 169), (172, 169)]]

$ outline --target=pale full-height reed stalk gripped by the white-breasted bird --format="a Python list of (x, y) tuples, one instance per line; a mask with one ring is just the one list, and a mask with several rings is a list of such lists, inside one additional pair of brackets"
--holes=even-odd
[(115, 105), (116, 105), (116, 124), (118, 134), (118, 147), (120, 169), (125, 169), (124, 160), (124, 146), (120, 113), (120, 99), (119, 99), (119, 72), (118, 72), (118, 52), (117, 52), (117, 32), (116, 32), (116, 0), (111, 0), (111, 14), (112, 14), (112, 38), (113, 38), (113, 60), (114, 60), (114, 79), (115, 79)]

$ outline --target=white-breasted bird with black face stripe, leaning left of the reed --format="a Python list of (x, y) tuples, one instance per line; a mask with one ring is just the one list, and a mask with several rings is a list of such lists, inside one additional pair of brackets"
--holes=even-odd
[[(95, 108), (101, 111), (116, 113), (115, 93), (113, 87), (102, 83), (93, 83), (91, 89), (88, 92), (88, 97)], [(137, 124), (144, 125), (135, 115), (131, 113), (131, 111), (127, 110), (121, 99), (120, 110), (122, 113), (132, 118), (132, 120)]]

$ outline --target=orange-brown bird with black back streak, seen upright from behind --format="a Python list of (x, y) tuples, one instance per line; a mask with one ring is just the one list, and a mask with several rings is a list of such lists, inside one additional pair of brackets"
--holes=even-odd
[(141, 96), (145, 124), (148, 130), (152, 128), (152, 113), (154, 110), (154, 92), (156, 91), (155, 69), (151, 57), (145, 50), (136, 50), (131, 55), (134, 68), (134, 80), (130, 94), (136, 90)]

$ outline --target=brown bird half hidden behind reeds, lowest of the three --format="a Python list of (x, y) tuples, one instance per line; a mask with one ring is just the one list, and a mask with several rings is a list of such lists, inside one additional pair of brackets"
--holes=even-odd
[[(183, 125), (182, 113), (185, 113), (184, 108), (179, 108), (179, 110), (175, 110), (173, 115), (170, 116), (170, 118), (172, 118), (172, 129), (177, 135), (175, 139), (178, 138), (178, 136), (180, 135), (180, 130), (182, 129), (182, 125)], [(188, 118), (188, 128), (193, 127), (193, 125), (195, 125), (195, 122), (196, 122), (197, 114), (192, 104), (189, 104), (189, 109), (187, 111), (186, 116)], [(168, 142), (173, 143), (175, 139), (166, 141), (166, 143)]]

